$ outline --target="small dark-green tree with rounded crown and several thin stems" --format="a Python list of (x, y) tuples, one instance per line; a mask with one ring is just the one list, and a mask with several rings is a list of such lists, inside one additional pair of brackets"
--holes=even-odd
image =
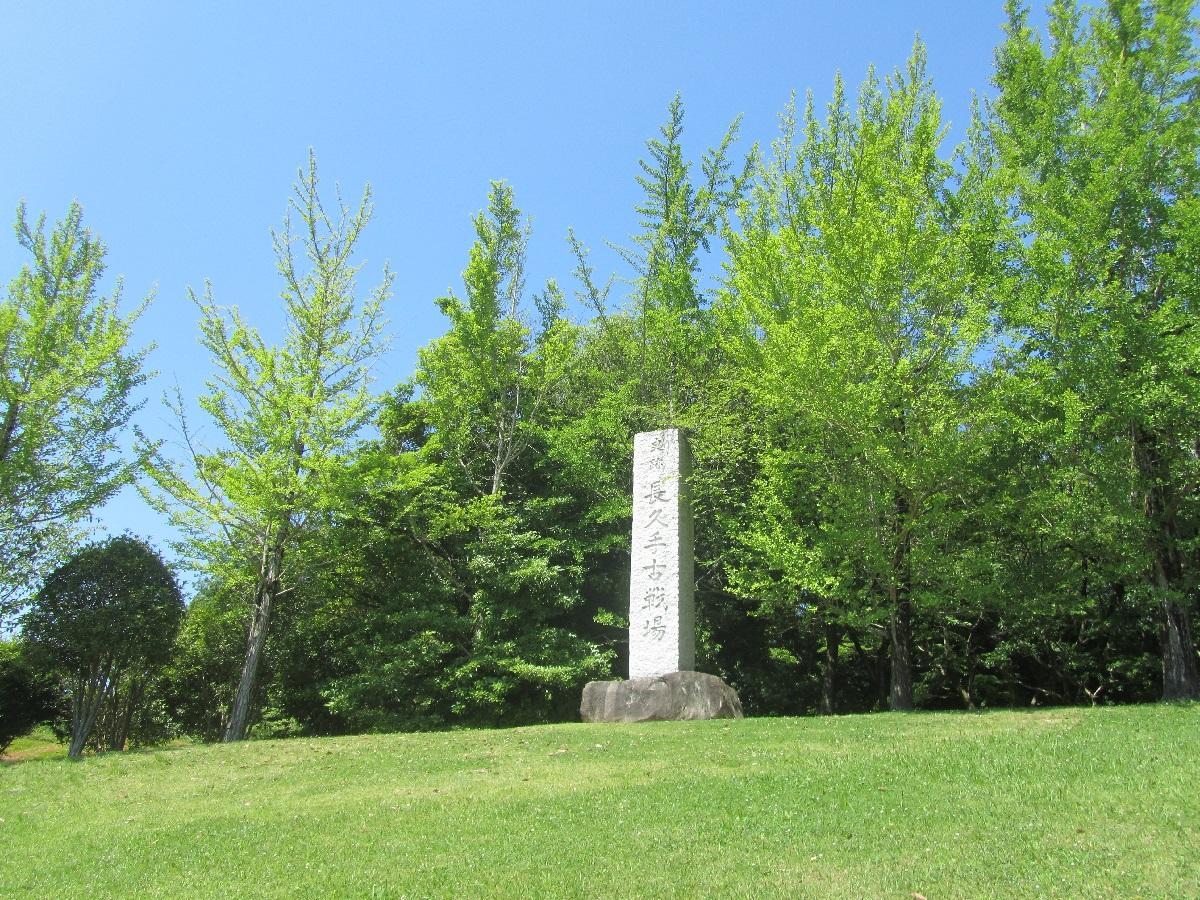
[(22, 619), (23, 637), (71, 696), (68, 756), (83, 752), (106, 707), (127, 728), (139, 685), (166, 664), (182, 616), (175, 576), (134, 538), (90, 544), (47, 577)]

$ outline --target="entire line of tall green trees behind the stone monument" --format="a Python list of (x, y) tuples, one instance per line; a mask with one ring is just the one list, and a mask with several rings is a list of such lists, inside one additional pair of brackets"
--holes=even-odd
[[(194, 298), (222, 442), (176, 400), (188, 458), (139, 439), (96, 469), (145, 473), (203, 572), (145, 733), (572, 718), (584, 682), (625, 672), (632, 436), (661, 427), (695, 458), (697, 666), (751, 714), (1200, 697), (1190, 16), (1054, 2), (1042, 37), (1010, 4), (956, 148), (919, 43), (745, 158), (734, 122), (692, 162), (677, 98), (641, 162), (624, 298), (574, 233), (574, 284), (528, 286), (528, 220), (493, 184), (437, 301), (446, 334), (379, 398), (391, 276), (362, 293), (353, 258), (370, 194), (326, 210), (310, 160), (275, 235), (284, 341)], [(37, 265), (6, 328), (88, 277), (72, 215), (49, 242), (22, 218)], [(54, 259), (78, 262), (37, 275)], [(142, 383), (118, 322), (122, 380), (78, 398), (120, 400), (88, 432), (108, 436), (96, 467)], [(0, 438), (19, 444), (13, 359)], [(14, 464), (0, 452), (6, 497), (37, 476)], [(6, 523), (6, 560), (61, 559), (72, 515)], [(18, 596), (32, 575), (11, 571)]]

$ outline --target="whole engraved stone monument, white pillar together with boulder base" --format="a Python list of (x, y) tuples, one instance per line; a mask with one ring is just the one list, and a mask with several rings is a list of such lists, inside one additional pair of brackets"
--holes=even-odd
[(738, 695), (694, 672), (695, 550), (688, 442), (676, 428), (634, 438), (634, 535), (629, 578), (629, 680), (589, 682), (586, 722), (742, 718)]

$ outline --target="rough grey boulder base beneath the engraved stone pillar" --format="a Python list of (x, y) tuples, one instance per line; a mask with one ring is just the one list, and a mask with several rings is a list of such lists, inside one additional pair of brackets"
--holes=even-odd
[(671, 672), (628, 682), (588, 682), (580, 716), (586, 722), (740, 719), (737, 691), (704, 672)]

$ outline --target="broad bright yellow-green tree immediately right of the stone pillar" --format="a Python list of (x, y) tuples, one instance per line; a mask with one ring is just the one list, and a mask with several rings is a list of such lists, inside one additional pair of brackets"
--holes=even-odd
[(884, 84), (868, 76), (857, 109), (839, 79), (824, 121), (810, 100), (799, 145), (785, 132), (732, 252), (733, 352), (768, 432), (743, 589), (830, 626), (882, 619), (894, 709), (913, 704), (914, 608), (962, 583), (946, 536), (970, 515), (970, 380), (990, 334), (995, 209), (976, 160), (938, 157), (943, 134), (919, 42)]

